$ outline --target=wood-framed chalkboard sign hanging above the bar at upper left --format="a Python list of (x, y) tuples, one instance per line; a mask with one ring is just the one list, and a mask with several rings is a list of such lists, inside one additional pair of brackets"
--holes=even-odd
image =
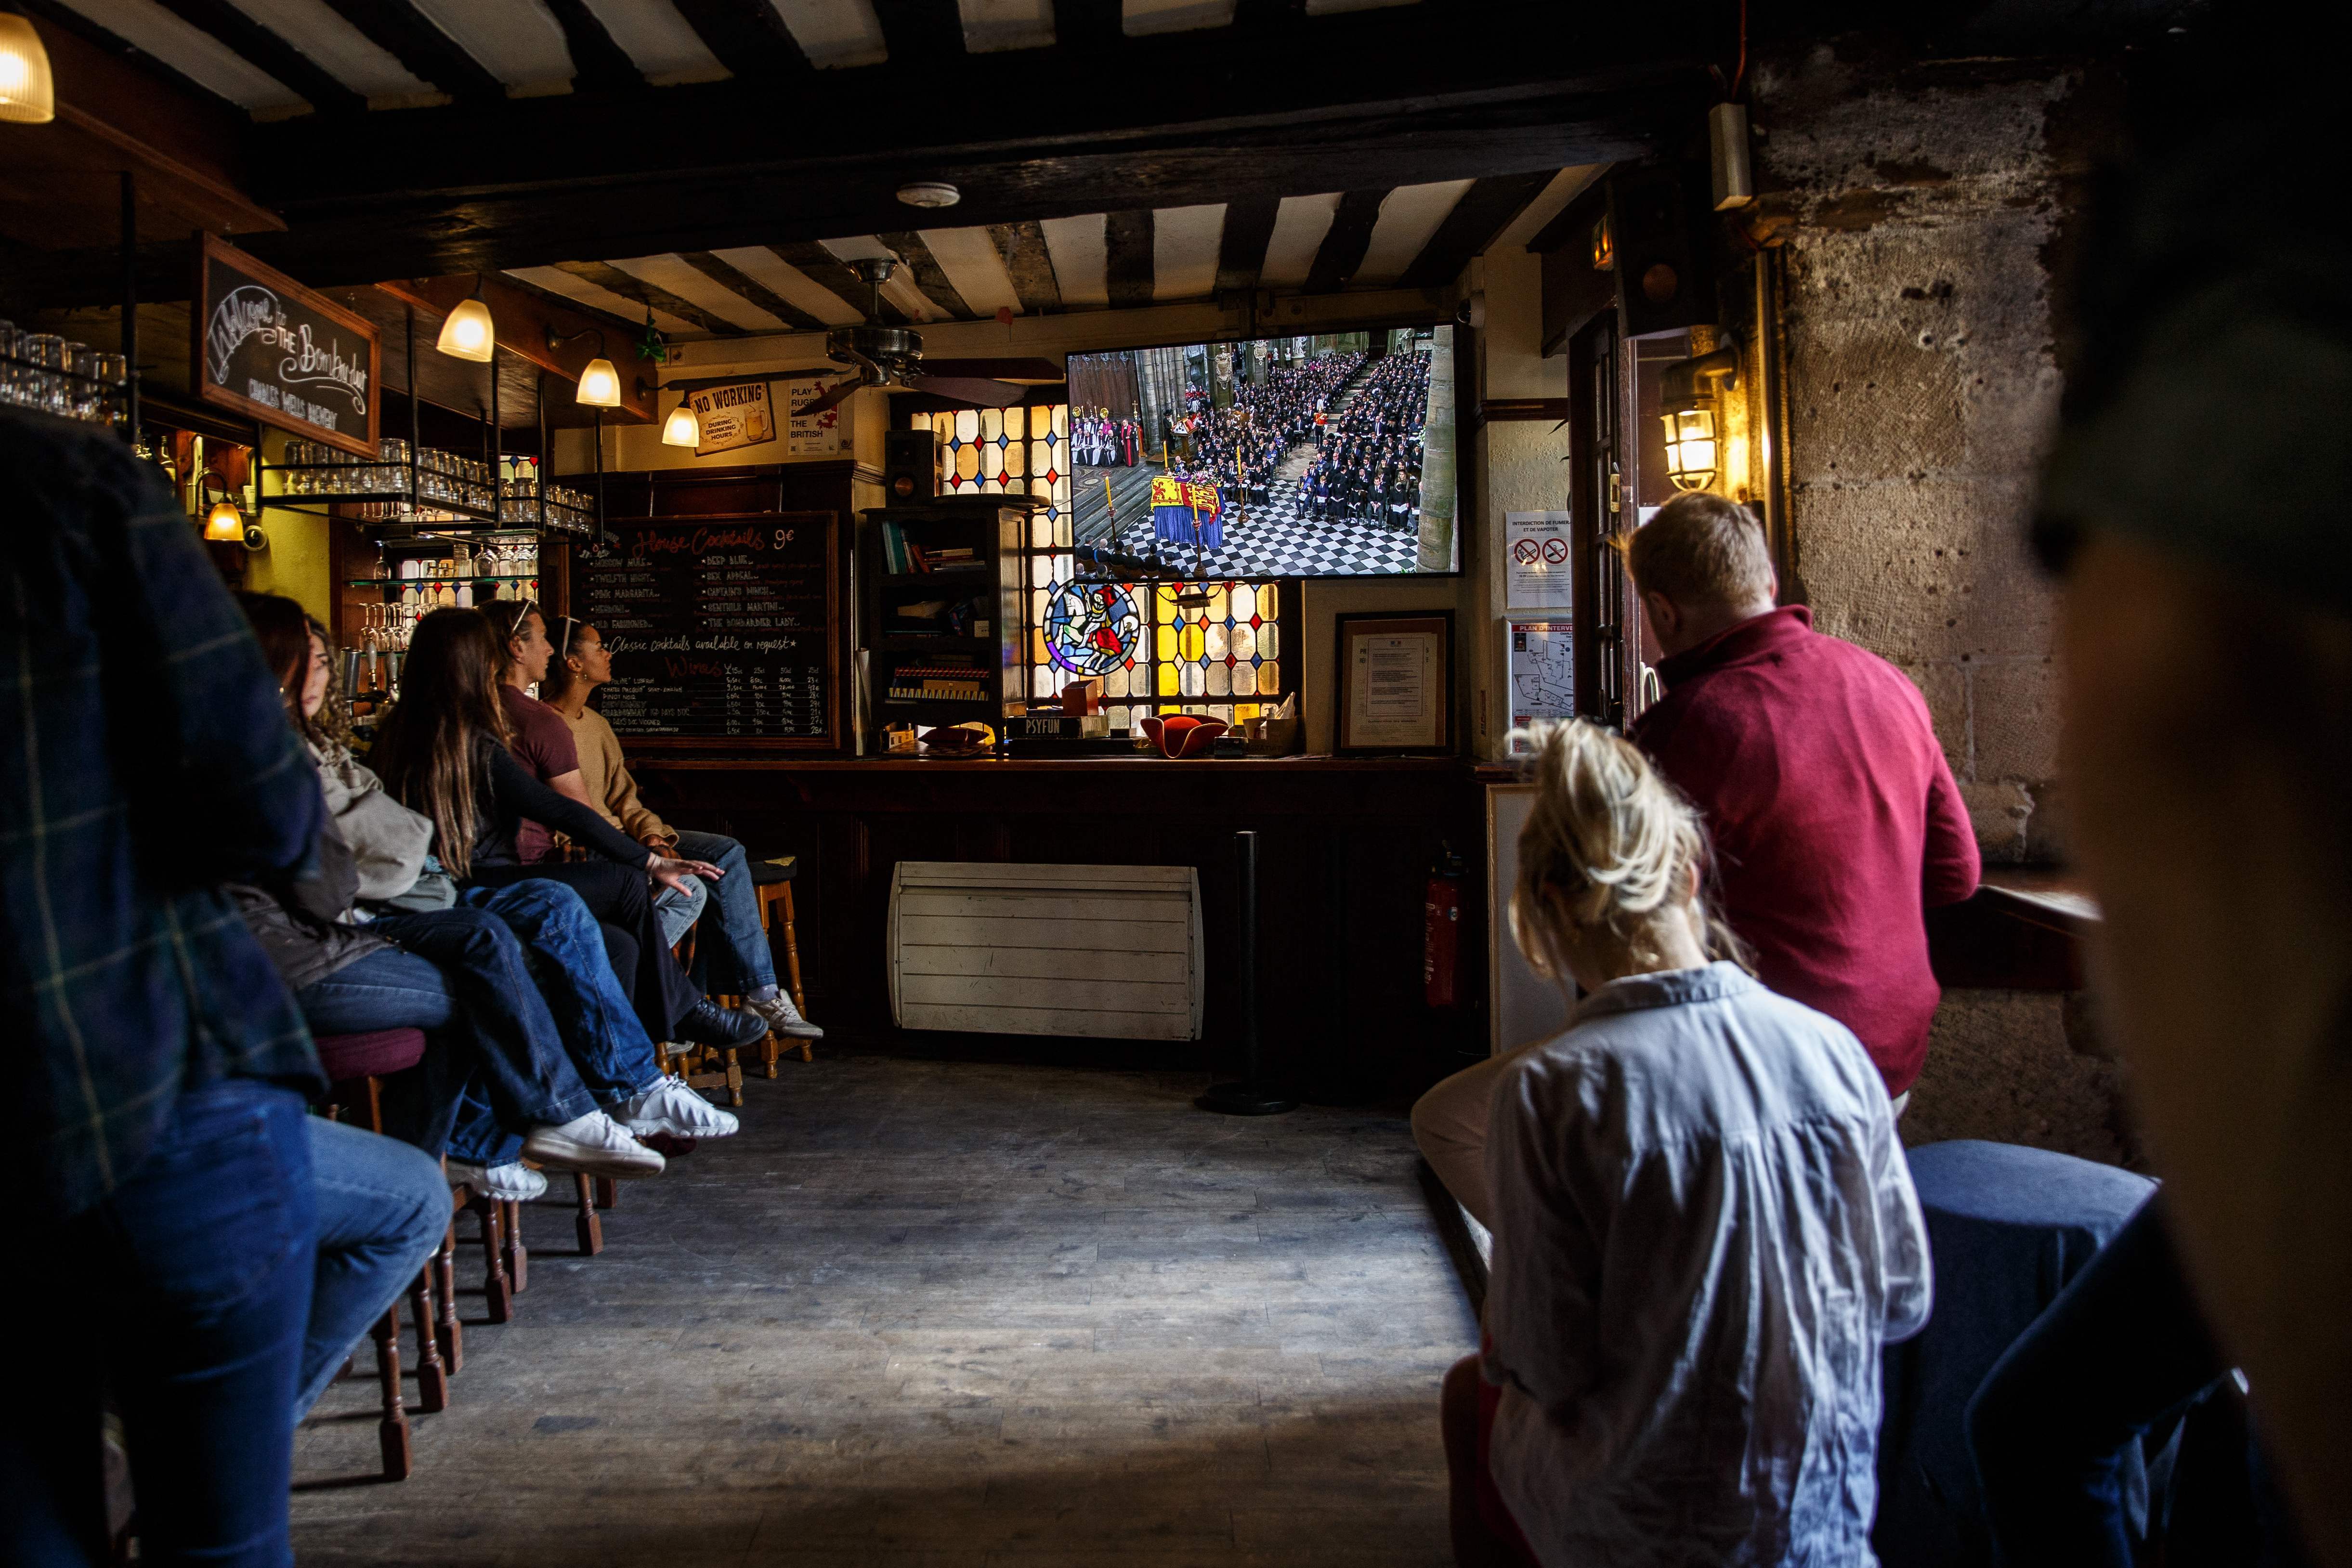
[(214, 235), (198, 237), (191, 376), (205, 402), (376, 456), (376, 327)]

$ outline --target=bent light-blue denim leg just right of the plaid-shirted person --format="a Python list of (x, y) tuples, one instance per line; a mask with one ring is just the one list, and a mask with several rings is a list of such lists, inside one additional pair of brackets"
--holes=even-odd
[(318, 1272), (294, 1420), (318, 1403), (343, 1356), (400, 1300), (449, 1229), (449, 1182), (440, 1159), (325, 1117), (310, 1117), (308, 1133)]

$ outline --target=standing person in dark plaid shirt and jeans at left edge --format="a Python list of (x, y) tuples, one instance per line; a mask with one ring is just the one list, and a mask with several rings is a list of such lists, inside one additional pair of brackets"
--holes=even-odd
[(122, 442), (0, 409), (0, 541), (5, 1180), (73, 1291), (0, 1415), (0, 1559), (108, 1561), (111, 1387), (143, 1561), (287, 1563), (322, 1084), (221, 884), (308, 870), (318, 776)]

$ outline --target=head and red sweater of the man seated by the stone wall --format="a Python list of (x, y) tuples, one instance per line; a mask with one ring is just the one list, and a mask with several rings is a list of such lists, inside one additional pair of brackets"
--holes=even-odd
[(1632, 741), (1705, 818), (1724, 919), (1764, 985), (1853, 1030), (1907, 1093), (1943, 994), (1924, 912), (1980, 872), (1926, 701), (1806, 609), (1773, 609), (1764, 529), (1722, 496), (1668, 503), (1625, 564), (1665, 686)]

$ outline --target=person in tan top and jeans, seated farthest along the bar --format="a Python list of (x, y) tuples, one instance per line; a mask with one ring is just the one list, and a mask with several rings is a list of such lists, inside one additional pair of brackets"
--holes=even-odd
[[(776, 1034), (823, 1039), (826, 1032), (802, 1018), (793, 999), (776, 985), (776, 957), (767, 945), (767, 931), (760, 926), (760, 898), (753, 891), (743, 846), (717, 832), (670, 827), (637, 797), (637, 780), (628, 773), (621, 738), (612, 733), (604, 715), (588, 705), (595, 689), (612, 679), (612, 654), (604, 649), (604, 639), (586, 621), (557, 616), (548, 628), (548, 642), (555, 646), (548, 658), (548, 672), (539, 682), (539, 701), (560, 712), (564, 724), (572, 726), (572, 741), (579, 748), (581, 762), (579, 778), (588, 790), (588, 804), (647, 849), (710, 860), (727, 872), (717, 886), (717, 926), (722, 940), (713, 943), (710, 987), (715, 992), (741, 994), (743, 1006), (760, 1013)], [(661, 898), (654, 900), (654, 910), (661, 917), (661, 936), (675, 943), (687, 933), (687, 926), (703, 917), (708, 903), (710, 889), (701, 882), (694, 884), (691, 893), (663, 889)], [(734, 973), (724, 973), (727, 969), (734, 969)]]

